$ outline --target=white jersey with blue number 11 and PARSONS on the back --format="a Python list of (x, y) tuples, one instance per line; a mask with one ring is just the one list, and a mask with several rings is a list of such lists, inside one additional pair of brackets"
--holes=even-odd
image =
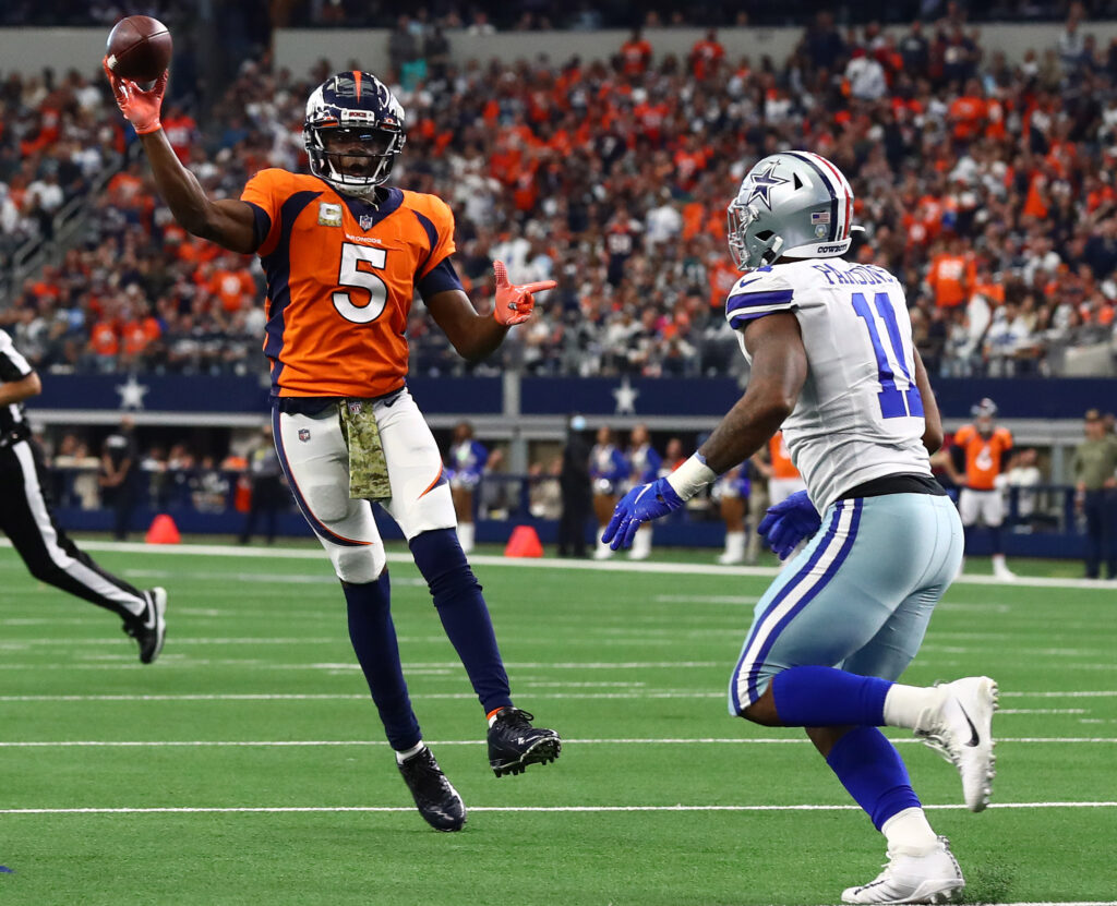
[(745, 328), (774, 311), (795, 314), (806, 348), (806, 382), (783, 436), (819, 512), (871, 479), (929, 475), (899, 281), (884, 268), (839, 258), (750, 271), (725, 303), (750, 364)]

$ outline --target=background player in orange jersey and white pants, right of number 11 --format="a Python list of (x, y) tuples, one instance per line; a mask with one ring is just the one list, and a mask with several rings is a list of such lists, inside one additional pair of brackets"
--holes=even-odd
[(945, 465), (951, 480), (962, 489), (958, 513), (966, 531), (966, 548), (974, 529), (984, 526), (993, 543), (993, 575), (1011, 581), (1016, 576), (1004, 561), (1003, 488), (1004, 473), (1012, 460), (1012, 434), (996, 424), (996, 403), (992, 399), (976, 403), (970, 414), (974, 421), (955, 432)]

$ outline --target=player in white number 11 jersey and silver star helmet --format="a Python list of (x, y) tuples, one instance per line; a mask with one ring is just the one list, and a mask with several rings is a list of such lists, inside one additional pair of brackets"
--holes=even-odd
[(962, 524), (930, 476), (942, 422), (904, 290), (885, 269), (842, 259), (852, 210), (849, 182), (817, 154), (773, 154), (748, 172), (728, 211), (745, 274), (726, 300), (748, 386), (694, 456), (620, 501), (604, 540), (628, 546), (642, 522), (682, 507), (782, 426), (806, 491), (770, 508), (760, 531), (782, 557), (810, 541), (756, 605), (729, 712), (804, 727), (885, 835), (885, 870), (843, 902), (934, 903), (965, 881), (877, 727), (914, 730), (958, 769), (966, 806), (981, 811), (996, 684), (895, 682), (957, 572)]

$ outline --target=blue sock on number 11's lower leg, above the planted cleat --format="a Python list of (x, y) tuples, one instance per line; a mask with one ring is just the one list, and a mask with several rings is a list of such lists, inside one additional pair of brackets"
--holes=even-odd
[(900, 753), (875, 726), (855, 726), (834, 743), (827, 764), (877, 830), (904, 809), (920, 808)]

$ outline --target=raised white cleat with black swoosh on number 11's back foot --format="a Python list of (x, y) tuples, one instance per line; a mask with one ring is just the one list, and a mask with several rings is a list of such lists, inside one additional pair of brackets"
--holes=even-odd
[(915, 735), (934, 749), (962, 775), (962, 796), (970, 811), (982, 811), (993, 796), (993, 712), (996, 683), (987, 676), (967, 676), (936, 684), (943, 696), (935, 709), (919, 715)]

